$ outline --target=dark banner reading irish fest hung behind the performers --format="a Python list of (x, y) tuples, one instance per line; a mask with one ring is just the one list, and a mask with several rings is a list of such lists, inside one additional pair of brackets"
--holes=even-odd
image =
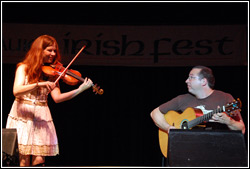
[(2, 61), (18, 63), (40, 35), (56, 38), (62, 63), (83, 45), (76, 65), (239, 66), (247, 65), (245, 25), (50, 25), (2, 24)]

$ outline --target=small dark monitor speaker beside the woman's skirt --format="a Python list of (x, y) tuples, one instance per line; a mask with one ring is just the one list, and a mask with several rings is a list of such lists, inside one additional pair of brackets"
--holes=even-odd
[(3, 166), (17, 166), (19, 163), (16, 129), (2, 129), (2, 161)]

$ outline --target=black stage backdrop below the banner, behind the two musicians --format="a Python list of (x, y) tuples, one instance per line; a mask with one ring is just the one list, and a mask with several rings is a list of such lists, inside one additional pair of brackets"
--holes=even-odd
[[(248, 124), (247, 66), (211, 67), (216, 89), (240, 98)], [(91, 89), (74, 99), (49, 107), (56, 126), (60, 155), (47, 158), (51, 166), (161, 166), (158, 128), (150, 112), (187, 92), (191, 67), (72, 66), (104, 90)], [(3, 65), (3, 126), (14, 100), (15, 65)], [(76, 88), (60, 82), (62, 92)], [(248, 129), (246, 131), (248, 133)], [(245, 135), (247, 142), (247, 134)]]

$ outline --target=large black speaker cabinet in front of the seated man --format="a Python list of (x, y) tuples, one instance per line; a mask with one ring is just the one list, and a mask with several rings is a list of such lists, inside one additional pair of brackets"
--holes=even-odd
[(241, 131), (171, 129), (169, 166), (247, 166), (247, 148)]

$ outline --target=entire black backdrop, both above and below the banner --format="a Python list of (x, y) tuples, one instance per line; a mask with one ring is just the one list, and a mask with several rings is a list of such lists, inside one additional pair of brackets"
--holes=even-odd
[[(47, 12), (49, 11), (49, 12)], [(248, 24), (246, 3), (6, 3), (3, 23), (81, 25)], [(248, 143), (248, 65), (210, 66), (218, 90), (240, 98)], [(14, 96), (16, 65), (2, 64), (2, 127)], [(49, 98), (60, 155), (47, 166), (161, 166), (150, 112), (187, 92), (191, 67), (71, 66), (103, 90), (63, 103)], [(60, 81), (62, 92), (78, 86)]]

